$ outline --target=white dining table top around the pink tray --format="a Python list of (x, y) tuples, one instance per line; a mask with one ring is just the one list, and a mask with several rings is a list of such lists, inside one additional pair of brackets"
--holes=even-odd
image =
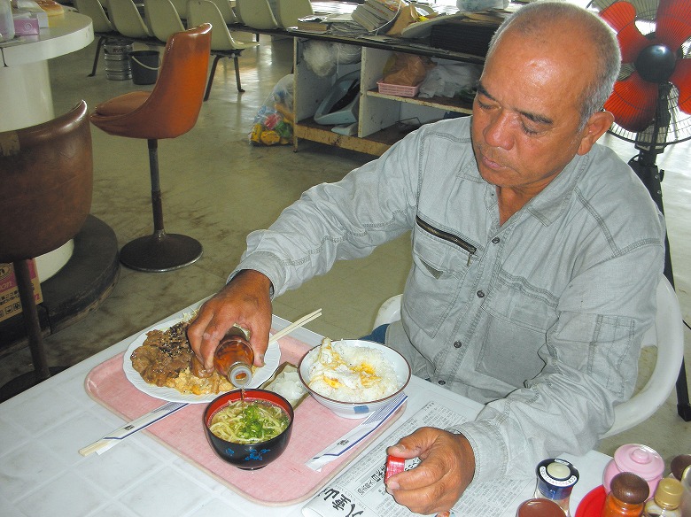
[[(200, 305), (185, 307), (154, 323), (182, 317)], [(278, 330), (289, 321), (274, 316)], [(146, 329), (143, 329), (145, 331)], [(125, 351), (136, 333), (104, 351), (50, 377), (0, 405), (0, 515), (13, 516), (299, 516), (305, 503), (265, 506), (253, 503), (175, 451), (159, 443), (146, 430), (129, 436), (103, 454), (83, 457), (78, 451), (123, 421), (89, 397), (84, 381), (89, 371)], [(322, 336), (298, 328), (292, 337), (318, 345)], [(400, 423), (431, 400), (447, 400), (454, 411), (474, 418), (481, 405), (439, 386), (413, 377), (405, 390), (408, 404), (399, 420), (387, 428), (358, 457), (387, 440)], [(162, 402), (163, 404), (163, 402)], [(578, 468), (580, 480), (571, 493), (571, 514), (588, 491), (602, 484), (609, 457), (589, 451), (584, 456), (560, 455)], [(525, 489), (516, 506), (532, 497)], [(509, 507), (506, 517), (516, 514)]]

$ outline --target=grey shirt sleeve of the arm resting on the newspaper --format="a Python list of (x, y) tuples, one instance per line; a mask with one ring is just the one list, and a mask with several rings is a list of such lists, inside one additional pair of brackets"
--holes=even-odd
[(614, 407), (633, 393), (642, 335), (655, 318), (663, 253), (660, 243), (641, 245), (572, 280), (540, 350), (543, 371), (485, 405), (476, 421), (449, 429), (470, 441), (475, 480), (524, 475), (526, 465), (596, 446), (614, 421)]

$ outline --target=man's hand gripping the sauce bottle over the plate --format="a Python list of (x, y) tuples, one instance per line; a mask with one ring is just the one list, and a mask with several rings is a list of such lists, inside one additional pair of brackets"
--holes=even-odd
[(252, 333), (250, 344), (254, 366), (264, 366), (264, 352), (267, 351), (271, 329), (270, 287), (266, 275), (247, 269), (238, 273), (199, 308), (197, 318), (187, 329), (187, 336), (192, 351), (207, 371), (214, 370), (214, 351), (228, 329), (236, 323)]

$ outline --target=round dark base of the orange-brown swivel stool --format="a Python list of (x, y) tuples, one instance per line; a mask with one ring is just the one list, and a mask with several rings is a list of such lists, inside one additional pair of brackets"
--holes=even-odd
[(194, 264), (202, 252), (201, 243), (192, 237), (159, 231), (125, 244), (120, 262), (137, 271), (162, 273)]

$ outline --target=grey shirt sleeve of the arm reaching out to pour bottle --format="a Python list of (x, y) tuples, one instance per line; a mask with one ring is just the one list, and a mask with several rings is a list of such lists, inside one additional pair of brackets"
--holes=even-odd
[(254, 269), (268, 276), (277, 297), (325, 274), (337, 260), (366, 257), (409, 230), (419, 140), (408, 135), (343, 180), (308, 189), (268, 229), (247, 236), (247, 250), (229, 280)]

